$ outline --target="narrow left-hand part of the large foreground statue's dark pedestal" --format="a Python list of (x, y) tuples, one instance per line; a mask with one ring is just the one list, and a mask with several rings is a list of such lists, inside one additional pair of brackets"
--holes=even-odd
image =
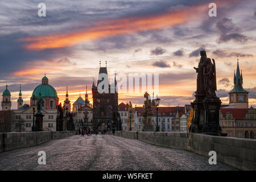
[(196, 100), (191, 102), (191, 107), (193, 108), (193, 119), (191, 121), (191, 126), (189, 127), (189, 132), (191, 133), (202, 133), (204, 125), (204, 98), (205, 92), (196, 92)]

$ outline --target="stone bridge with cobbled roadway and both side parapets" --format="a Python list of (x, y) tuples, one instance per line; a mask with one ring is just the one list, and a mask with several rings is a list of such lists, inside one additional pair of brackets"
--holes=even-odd
[[(46, 165), (38, 164), (39, 151)], [(208, 163), (209, 151), (216, 151), (216, 165)], [(0, 133), (0, 152), (0, 170), (256, 169), (256, 139), (180, 132)]]

